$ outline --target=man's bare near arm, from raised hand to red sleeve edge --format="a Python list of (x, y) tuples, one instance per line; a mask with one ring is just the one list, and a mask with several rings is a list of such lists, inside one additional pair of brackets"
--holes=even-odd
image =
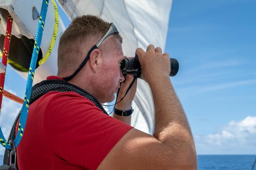
[(98, 169), (197, 168), (189, 124), (168, 76), (169, 55), (162, 55), (159, 48), (154, 51), (153, 48), (148, 46), (146, 53), (137, 49), (136, 54), (144, 72), (142, 76), (150, 85), (154, 99), (154, 136), (131, 129), (108, 153)]

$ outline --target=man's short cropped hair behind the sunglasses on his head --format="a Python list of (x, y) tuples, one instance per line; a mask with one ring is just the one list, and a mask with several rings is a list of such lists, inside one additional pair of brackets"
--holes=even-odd
[[(58, 74), (73, 73), (90, 48), (108, 31), (110, 23), (93, 15), (76, 17), (60, 37), (58, 47)], [(113, 34), (122, 43), (118, 33)], [(95, 44), (94, 44), (95, 43)]]

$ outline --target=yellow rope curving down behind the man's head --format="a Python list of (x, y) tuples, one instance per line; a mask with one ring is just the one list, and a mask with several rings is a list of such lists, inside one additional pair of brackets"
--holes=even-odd
[(45, 54), (44, 58), (42, 58), (41, 60), (38, 61), (39, 65), (44, 64), (45, 61), (49, 58), (50, 54), (52, 53), (52, 49), (53, 49), (53, 47), (55, 45), (57, 34), (58, 34), (58, 28), (59, 28), (58, 7), (57, 7), (57, 4), (55, 3), (54, 0), (52, 0), (52, 4), (53, 4), (54, 10), (55, 10), (55, 25), (54, 25), (53, 35), (52, 35), (52, 41), (51, 41), (49, 49), (48, 49), (47, 53)]

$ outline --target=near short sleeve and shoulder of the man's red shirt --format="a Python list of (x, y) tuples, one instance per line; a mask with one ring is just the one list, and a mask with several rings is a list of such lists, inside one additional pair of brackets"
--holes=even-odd
[(44, 136), (52, 156), (92, 170), (132, 128), (74, 92), (55, 96), (44, 116)]

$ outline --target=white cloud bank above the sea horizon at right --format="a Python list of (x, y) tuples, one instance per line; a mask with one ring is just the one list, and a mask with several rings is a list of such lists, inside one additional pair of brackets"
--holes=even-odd
[(199, 154), (256, 154), (256, 117), (231, 121), (215, 134), (195, 136)]

